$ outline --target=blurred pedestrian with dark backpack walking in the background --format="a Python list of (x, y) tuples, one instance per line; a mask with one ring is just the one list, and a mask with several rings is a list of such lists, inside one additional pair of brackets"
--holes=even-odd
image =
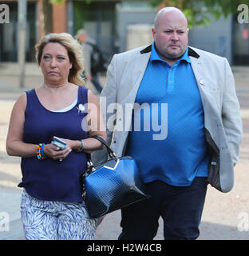
[[(97, 92), (101, 94), (102, 86), (99, 82), (99, 74), (101, 71), (101, 63), (99, 63), (101, 62), (101, 51), (97, 47), (97, 42), (93, 38), (90, 38), (87, 31), (83, 29), (77, 31), (76, 38), (83, 48), (85, 78), (92, 82)], [(102, 64), (104, 65), (104, 63)]]

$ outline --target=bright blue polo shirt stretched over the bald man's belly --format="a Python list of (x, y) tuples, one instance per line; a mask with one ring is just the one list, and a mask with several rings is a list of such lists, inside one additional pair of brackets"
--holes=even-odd
[(136, 94), (126, 154), (143, 181), (190, 186), (208, 175), (204, 110), (188, 48), (173, 66), (152, 53)]

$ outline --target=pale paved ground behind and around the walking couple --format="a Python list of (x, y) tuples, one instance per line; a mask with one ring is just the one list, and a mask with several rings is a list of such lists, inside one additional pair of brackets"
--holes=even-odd
[[(243, 143), (235, 167), (235, 186), (223, 194), (208, 186), (200, 238), (211, 240), (249, 239), (249, 67), (234, 67), (236, 90), (243, 117)], [(0, 66), (0, 240), (24, 239), (20, 220), (20, 159), (6, 154), (6, 134), (11, 109), (18, 95), (18, 66)], [(28, 66), (26, 89), (41, 84), (39, 70)], [(105, 78), (102, 78), (102, 82)], [(91, 85), (89, 88), (93, 89)], [(93, 89), (94, 91), (94, 89)], [(2, 226), (10, 218), (9, 225)], [(107, 215), (97, 228), (97, 240), (115, 240), (120, 234), (121, 213)], [(6, 230), (8, 231), (6, 231)], [(241, 231), (243, 229), (243, 231)], [(156, 239), (163, 239), (162, 220)]]

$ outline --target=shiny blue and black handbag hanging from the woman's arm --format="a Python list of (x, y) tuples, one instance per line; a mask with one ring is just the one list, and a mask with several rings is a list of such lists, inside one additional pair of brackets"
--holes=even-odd
[(110, 160), (99, 166), (93, 166), (89, 158), (88, 170), (82, 176), (83, 199), (90, 218), (100, 218), (114, 210), (119, 210), (132, 203), (149, 198), (145, 194), (136, 162), (130, 156), (117, 158), (108, 144), (98, 136), (93, 136), (103, 143)]

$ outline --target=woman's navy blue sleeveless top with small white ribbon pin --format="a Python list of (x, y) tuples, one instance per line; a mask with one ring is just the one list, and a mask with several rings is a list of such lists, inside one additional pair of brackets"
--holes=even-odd
[[(85, 118), (88, 89), (79, 86), (77, 104), (66, 112), (45, 109), (35, 90), (27, 91), (26, 95), (23, 142), (47, 144), (53, 136), (72, 140), (88, 138)], [(51, 158), (22, 158), (22, 182), (18, 186), (24, 187), (30, 196), (40, 200), (82, 202), (81, 174), (86, 165), (85, 153), (75, 150), (61, 162)]]

